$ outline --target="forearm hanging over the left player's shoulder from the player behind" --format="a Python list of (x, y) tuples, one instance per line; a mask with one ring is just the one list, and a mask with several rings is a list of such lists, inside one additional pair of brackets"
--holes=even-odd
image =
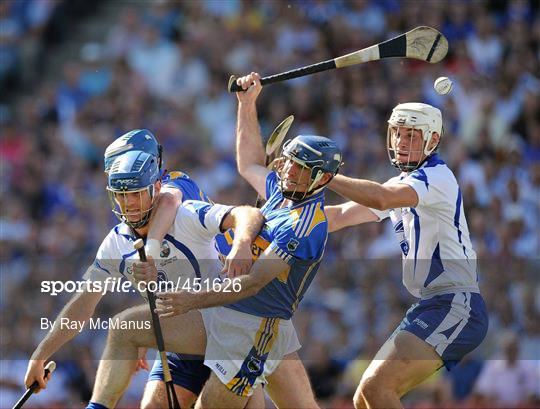
[(150, 219), (148, 236), (146, 240), (146, 254), (158, 259), (161, 251), (161, 242), (171, 228), (176, 217), (178, 207), (182, 203), (182, 191), (174, 187), (163, 186), (157, 197), (156, 208)]

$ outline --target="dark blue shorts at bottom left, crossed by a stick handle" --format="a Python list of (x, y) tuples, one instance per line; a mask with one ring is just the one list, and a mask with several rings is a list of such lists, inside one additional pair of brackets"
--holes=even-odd
[[(167, 352), (167, 361), (171, 369), (173, 383), (199, 395), (210, 376), (210, 368), (204, 365), (204, 356)], [(158, 355), (148, 375), (148, 381), (164, 380), (163, 366)]]

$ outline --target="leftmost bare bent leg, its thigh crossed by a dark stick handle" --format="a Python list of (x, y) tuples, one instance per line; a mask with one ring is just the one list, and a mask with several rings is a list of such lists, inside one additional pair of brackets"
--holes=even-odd
[[(198, 311), (190, 311), (160, 321), (166, 350), (204, 355), (206, 333)], [(113, 407), (129, 385), (138, 348), (156, 347), (147, 305), (123, 311), (114, 317), (113, 322), (125, 322), (129, 327), (122, 329), (119, 326), (109, 329), (107, 345), (99, 364), (92, 394), (92, 402), (106, 407)]]

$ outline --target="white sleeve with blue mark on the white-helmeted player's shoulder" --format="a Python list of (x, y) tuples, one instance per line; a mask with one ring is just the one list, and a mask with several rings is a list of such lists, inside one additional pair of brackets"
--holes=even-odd
[(441, 169), (416, 169), (398, 183), (408, 185), (416, 191), (420, 206), (433, 206), (445, 201), (449, 191), (453, 190), (450, 183), (455, 178), (452, 176), (445, 175)]

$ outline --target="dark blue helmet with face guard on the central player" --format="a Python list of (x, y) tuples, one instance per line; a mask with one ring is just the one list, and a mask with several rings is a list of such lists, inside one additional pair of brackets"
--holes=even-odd
[[(284, 160), (291, 160), (310, 172), (309, 182), (303, 192), (298, 192), (299, 185), (295, 183), (295, 188), (290, 190), (285, 185), (285, 166), (282, 163), (279, 169), (281, 193), (287, 199), (294, 201), (304, 200), (315, 193), (320, 192), (324, 185), (319, 185), (325, 174), (332, 177), (336, 175), (342, 164), (341, 150), (331, 139), (316, 135), (298, 135), (287, 141), (283, 145), (282, 157)], [(298, 178), (300, 179), (300, 177)]]

